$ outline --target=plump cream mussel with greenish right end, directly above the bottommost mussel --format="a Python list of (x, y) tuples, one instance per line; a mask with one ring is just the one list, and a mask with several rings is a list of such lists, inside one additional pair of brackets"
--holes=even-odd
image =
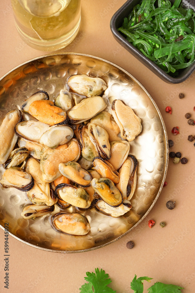
[(77, 188), (70, 184), (59, 184), (55, 190), (56, 196), (70, 205), (87, 209), (91, 205), (89, 194), (84, 188)]

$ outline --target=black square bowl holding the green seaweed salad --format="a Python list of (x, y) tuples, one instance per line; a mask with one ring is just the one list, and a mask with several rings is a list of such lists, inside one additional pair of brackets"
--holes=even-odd
[[(128, 0), (123, 4), (113, 15), (111, 18), (111, 31), (115, 37), (115, 39), (130, 53), (134, 55), (141, 63), (143, 63), (146, 67), (152, 70), (157, 76), (159, 76), (164, 81), (167, 81), (172, 84), (179, 84), (185, 81), (195, 70), (195, 62), (192, 63), (189, 67), (180, 69), (179, 75), (177, 77), (172, 77), (165, 71), (163, 71), (158, 65), (156, 65), (153, 61), (147, 58), (142, 52), (140, 52), (136, 47), (134, 47), (130, 42), (126, 40), (126, 38), (118, 32), (117, 28), (122, 26), (125, 17), (128, 17), (132, 12), (135, 5), (139, 4), (141, 0)], [(174, 0), (170, 0), (173, 4)], [(190, 8), (195, 11), (195, 0), (182, 0), (182, 7)]]

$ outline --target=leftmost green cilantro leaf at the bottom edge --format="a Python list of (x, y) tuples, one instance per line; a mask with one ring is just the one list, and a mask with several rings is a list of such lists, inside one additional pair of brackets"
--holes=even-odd
[[(95, 273), (86, 272), (87, 277), (85, 280), (89, 283), (86, 283), (81, 286), (80, 293), (115, 293), (113, 289), (108, 287), (112, 281), (108, 278), (108, 274), (105, 274), (104, 270), (99, 270), (99, 268), (95, 269)], [(94, 288), (94, 291), (92, 289)]]

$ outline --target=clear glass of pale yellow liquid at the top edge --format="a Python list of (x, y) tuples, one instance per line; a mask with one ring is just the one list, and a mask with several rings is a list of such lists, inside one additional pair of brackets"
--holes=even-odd
[(64, 48), (76, 37), (81, 21), (80, 0), (11, 0), (21, 38), (42, 51)]

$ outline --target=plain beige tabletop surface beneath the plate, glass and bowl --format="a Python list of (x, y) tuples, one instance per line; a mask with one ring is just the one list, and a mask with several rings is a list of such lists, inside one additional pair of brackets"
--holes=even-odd
[[(149, 215), (122, 239), (94, 251), (85, 253), (51, 253), (42, 251), (9, 236), (9, 291), (8, 292), (79, 292), (86, 271), (103, 268), (111, 277), (111, 287), (117, 292), (129, 293), (130, 282), (136, 274), (152, 277), (154, 282), (183, 286), (183, 293), (195, 292), (194, 267), (194, 142), (195, 126), (187, 124), (185, 113), (195, 120), (195, 73), (182, 84), (167, 84), (141, 64), (113, 38), (109, 24), (112, 15), (123, 0), (82, 0), (82, 25), (77, 38), (61, 52), (80, 52), (107, 59), (130, 72), (143, 84), (155, 100), (163, 116), (168, 139), (188, 159), (186, 165), (169, 162), (163, 188)], [(112, 7), (111, 7), (112, 6)], [(0, 2), (0, 76), (18, 64), (45, 54), (30, 48), (20, 39), (15, 29), (11, 4)], [(179, 99), (182, 92), (185, 98)], [(165, 107), (172, 107), (172, 115)], [(179, 126), (180, 134), (173, 136), (172, 127)], [(168, 200), (175, 200), (173, 210), (166, 208)], [(154, 219), (155, 226), (148, 227)], [(167, 225), (162, 229), (161, 221)], [(126, 248), (134, 241), (132, 250)], [(4, 231), (0, 229), (0, 291), (4, 288)], [(151, 286), (144, 284), (144, 292)]]

